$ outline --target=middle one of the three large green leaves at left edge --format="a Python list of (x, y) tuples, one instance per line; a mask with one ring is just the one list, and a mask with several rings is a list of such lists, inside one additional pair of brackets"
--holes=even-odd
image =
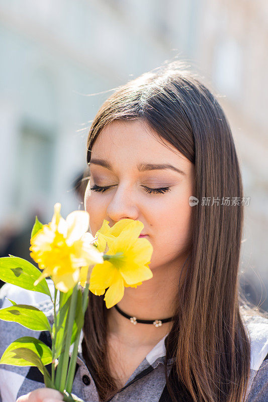
[(0, 310), (0, 319), (19, 323), (34, 331), (50, 331), (50, 324), (45, 314), (33, 306), (13, 305)]

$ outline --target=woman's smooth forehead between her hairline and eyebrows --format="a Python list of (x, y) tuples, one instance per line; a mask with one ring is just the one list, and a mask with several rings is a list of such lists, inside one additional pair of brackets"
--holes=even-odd
[(91, 157), (111, 163), (136, 162), (191, 163), (180, 151), (140, 120), (116, 120), (98, 135)]

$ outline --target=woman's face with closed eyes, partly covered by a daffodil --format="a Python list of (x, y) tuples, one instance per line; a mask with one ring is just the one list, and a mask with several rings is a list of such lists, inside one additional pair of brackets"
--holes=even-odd
[(160, 143), (139, 120), (114, 121), (91, 153), (85, 210), (95, 236), (103, 220), (141, 221), (153, 246), (150, 268), (180, 260), (190, 243), (194, 165), (176, 148)]

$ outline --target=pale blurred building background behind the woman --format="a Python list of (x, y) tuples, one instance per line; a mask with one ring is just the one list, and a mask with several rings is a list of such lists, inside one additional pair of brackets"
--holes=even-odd
[(111, 90), (188, 60), (232, 127), (251, 198), (241, 283), (268, 310), (267, 46), (265, 0), (0, 0), (0, 254), (24, 256), (34, 216), (47, 222), (56, 202), (63, 216), (83, 208), (73, 182)]

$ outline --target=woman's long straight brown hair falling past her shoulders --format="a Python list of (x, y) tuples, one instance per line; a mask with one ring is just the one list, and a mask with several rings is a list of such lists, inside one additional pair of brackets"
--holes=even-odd
[[(196, 74), (171, 62), (119, 87), (103, 104), (88, 136), (87, 162), (97, 136), (116, 119), (145, 121), (195, 164), (193, 195), (199, 203), (192, 209), (192, 247), (166, 338), (166, 361), (174, 359), (175, 377), (195, 402), (242, 402), (250, 369), (239, 289), (243, 206), (224, 205), (222, 198), (241, 200), (243, 190), (224, 112)], [(202, 205), (203, 197), (210, 197), (210, 205)], [(101, 400), (117, 391), (107, 361), (106, 314), (103, 297), (91, 293), (82, 350)], [(166, 380), (176, 401), (167, 371)]]

